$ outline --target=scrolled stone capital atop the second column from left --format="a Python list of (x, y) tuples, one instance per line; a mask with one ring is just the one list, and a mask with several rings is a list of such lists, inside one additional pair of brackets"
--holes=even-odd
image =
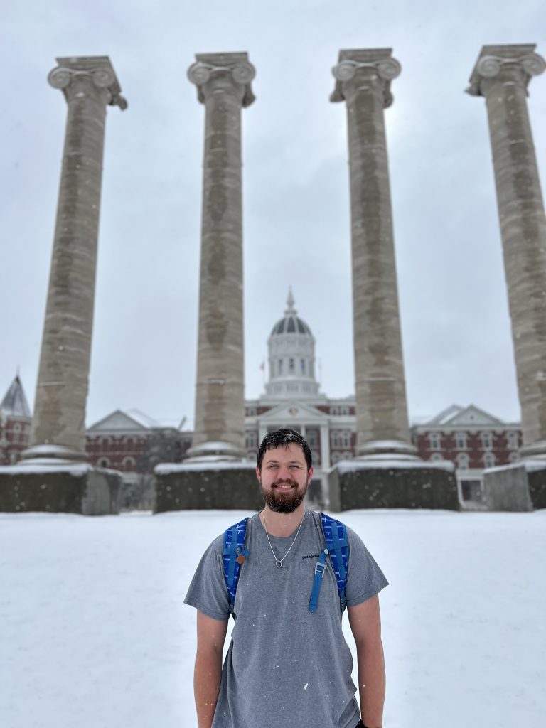
[(188, 69), (188, 78), (197, 86), (197, 98), (205, 103), (207, 94), (223, 91), (240, 98), (242, 106), (250, 106), (256, 98), (250, 87), (256, 68), (247, 53), (197, 53)]

